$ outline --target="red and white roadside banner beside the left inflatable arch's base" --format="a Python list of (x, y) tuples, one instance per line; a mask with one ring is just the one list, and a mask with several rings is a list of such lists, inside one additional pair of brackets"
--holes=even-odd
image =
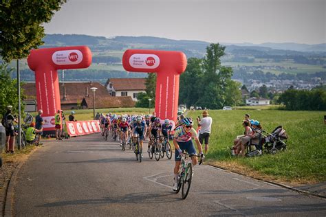
[(100, 132), (100, 122), (98, 120), (66, 122), (66, 125), (67, 132), (71, 137)]

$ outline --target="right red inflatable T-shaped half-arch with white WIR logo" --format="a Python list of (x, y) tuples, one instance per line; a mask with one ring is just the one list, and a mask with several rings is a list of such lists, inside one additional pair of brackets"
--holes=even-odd
[(128, 49), (123, 54), (122, 65), (126, 71), (157, 73), (155, 114), (176, 122), (179, 77), (186, 70), (186, 55), (182, 52)]

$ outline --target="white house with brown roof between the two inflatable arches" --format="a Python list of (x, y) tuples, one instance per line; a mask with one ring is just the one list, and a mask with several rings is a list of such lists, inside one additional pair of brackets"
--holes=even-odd
[(105, 87), (112, 96), (131, 96), (137, 101), (138, 93), (145, 93), (145, 81), (146, 78), (109, 78)]

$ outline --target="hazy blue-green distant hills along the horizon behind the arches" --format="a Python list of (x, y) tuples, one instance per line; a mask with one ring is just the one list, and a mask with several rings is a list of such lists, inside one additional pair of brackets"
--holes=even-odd
[[(82, 34), (47, 34), (41, 47), (65, 47), (87, 45), (92, 52), (93, 62), (87, 69), (69, 70), (67, 80), (94, 80), (105, 82), (107, 78), (140, 78), (146, 73), (127, 73), (122, 67), (122, 55), (127, 49), (158, 49), (181, 51), (187, 58), (204, 58), (205, 41), (173, 40), (151, 36), (87, 36)], [(326, 71), (326, 44), (306, 45), (298, 43), (252, 43), (226, 46), (223, 65), (232, 67), (235, 73), (262, 70), (271, 73), (315, 73)], [(34, 73), (21, 60), (22, 80), (34, 80)], [(308, 65), (308, 66), (307, 66)], [(14, 64), (12, 64), (14, 67)], [(244, 71), (243, 71), (244, 70)], [(83, 71), (81, 73), (80, 71)], [(83, 76), (81, 76), (83, 75)], [(12, 75), (15, 77), (15, 74)]]

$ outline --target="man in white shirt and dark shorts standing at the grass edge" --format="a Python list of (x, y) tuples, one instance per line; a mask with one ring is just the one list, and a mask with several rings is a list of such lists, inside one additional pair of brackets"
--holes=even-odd
[(200, 119), (199, 116), (197, 117), (198, 126), (200, 126), (199, 130), (199, 141), (200, 144), (204, 144), (203, 141), (205, 140), (205, 155), (208, 152), (208, 140), (210, 136), (210, 128), (212, 128), (212, 117), (208, 117), (208, 112), (203, 111), (202, 113), (203, 118)]

